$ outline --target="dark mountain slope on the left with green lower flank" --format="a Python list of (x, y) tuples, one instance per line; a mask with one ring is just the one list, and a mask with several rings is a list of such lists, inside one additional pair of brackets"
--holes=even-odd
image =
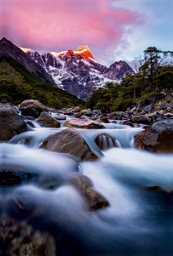
[(0, 40), (0, 101), (40, 100), (55, 108), (85, 108), (86, 102), (57, 87), (41, 65), (6, 38)]

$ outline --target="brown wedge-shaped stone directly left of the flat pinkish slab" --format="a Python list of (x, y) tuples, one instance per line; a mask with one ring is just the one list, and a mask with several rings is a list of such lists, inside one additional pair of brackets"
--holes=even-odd
[(36, 122), (44, 124), (45, 127), (50, 128), (59, 128), (61, 126), (61, 123), (58, 122), (52, 115), (47, 112), (41, 112)]

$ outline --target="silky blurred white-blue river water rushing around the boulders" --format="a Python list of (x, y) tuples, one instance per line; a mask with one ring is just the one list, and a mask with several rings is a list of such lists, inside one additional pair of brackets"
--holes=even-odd
[[(9, 254), (3, 255), (172, 255), (173, 196), (145, 189), (154, 185), (173, 189), (172, 155), (135, 150), (133, 136), (141, 128), (113, 123), (104, 124), (104, 130), (76, 129), (99, 157), (98, 161), (79, 162), (71, 155), (40, 149), (49, 135), (65, 129), (64, 121), (61, 123), (62, 127), (53, 129), (33, 122), (35, 128), (29, 132), (0, 144), (0, 169), (23, 174), (20, 183), (0, 186), (1, 223), (6, 225), (4, 232), (12, 234), (7, 235), (9, 240), (3, 250), (14, 239), (13, 244), (27, 243), (21, 237), (29, 234), (48, 244), (44, 254), (34, 249), (21, 254), (10, 245)], [(115, 138), (118, 148), (101, 151), (94, 139), (102, 132)], [(67, 183), (73, 173), (88, 176), (94, 190), (110, 206), (88, 212), (78, 191)], [(28, 235), (21, 231), (22, 225)], [(31, 227), (37, 233), (28, 231)], [(1, 230), (1, 237), (2, 233)]]

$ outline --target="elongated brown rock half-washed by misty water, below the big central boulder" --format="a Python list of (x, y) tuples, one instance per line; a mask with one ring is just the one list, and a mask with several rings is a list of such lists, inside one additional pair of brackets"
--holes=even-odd
[(93, 187), (93, 183), (87, 176), (74, 174), (68, 180), (68, 183), (77, 188), (91, 210), (100, 210), (109, 206), (109, 202), (105, 197), (90, 188)]

